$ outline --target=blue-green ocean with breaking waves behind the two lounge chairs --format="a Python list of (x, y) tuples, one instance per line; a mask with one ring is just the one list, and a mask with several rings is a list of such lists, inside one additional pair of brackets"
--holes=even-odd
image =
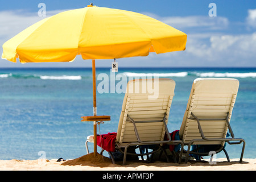
[[(125, 88), (115, 86), (132, 77), (175, 80), (170, 132), (180, 129), (193, 80), (237, 78), (240, 88), (230, 124), (235, 137), (246, 141), (243, 157), (256, 158), (256, 68), (119, 68), (117, 73), (96, 68), (97, 115), (111, 116), (100, 129), (97, 126), (98, 134), (117, 131)], [(102, 87), (103, 81), (108, 87)], [(91, 68), (0, 69), (0, 93), (0, 159), (75, 159), (86, 154), (85, 140), (93, 135), (93, 123), (81, 122), (81, 117), (93, 115)], [(242, 144), (226, 146), (230, 158), (240, 158), (241, 149)], [(92, 143), (89, 151), (93, 152)], [(217, 158), (225, 158), (224, 152)]]

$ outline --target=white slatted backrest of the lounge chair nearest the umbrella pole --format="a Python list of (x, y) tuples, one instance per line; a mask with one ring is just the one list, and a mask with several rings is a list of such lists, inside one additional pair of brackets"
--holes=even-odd
[[(131, 80), (127, 84), (117, 130), (117, 142), (137, 142), (134, 121), (162, 121), (166, 123), (174, 97), (175, 81), (168, 78)], [(129, 115), (129, 117), (127, 117)], [(143, 142), (164, 139), (163, 122), (137, 123), (139, 137)]]

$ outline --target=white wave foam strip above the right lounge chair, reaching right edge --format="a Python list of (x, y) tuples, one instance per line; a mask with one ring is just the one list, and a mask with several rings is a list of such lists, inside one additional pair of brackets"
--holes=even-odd
[(247, 78), (247, 77), (256, 77), (256, 73), (196, 73), (196, 76), (200, 77), (238, 77), (238, 78)]

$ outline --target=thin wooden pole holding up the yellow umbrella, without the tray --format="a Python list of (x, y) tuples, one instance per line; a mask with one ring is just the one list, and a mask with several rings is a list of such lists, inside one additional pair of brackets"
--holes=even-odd
[[(92, 74), (93, 74), (93, 116), (97, 115), (97, 104), (96, 104), (96, 68), (95, 60), (92, 60)], [(93, 121), (93, 136), (94, 136), (94, 152), (93, 156), (96, 157), (97, 154), (97, 124)]]

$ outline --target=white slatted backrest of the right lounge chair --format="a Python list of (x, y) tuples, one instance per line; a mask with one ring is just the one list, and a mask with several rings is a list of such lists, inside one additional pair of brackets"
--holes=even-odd
[[(230, 121), (234, 103), (238, 92), (239, 81), (233, 78), (197, 78), (192, 85), (185, 111), (183, 122), (180, 127), (180, 138), (184, 143), (192, 139), (201, 139), (197, 118), (213, 119), (212, 121), (200, 121), (206, 138), (225, 138), (228, 125), (225, 118), (228, 115)], [(223, 119), (217, 121), (217, 119)], [(215, 119), (215, 121), (214, 121)], [(194, 144), (224, 144), (220, 141), (195, 142)]]

